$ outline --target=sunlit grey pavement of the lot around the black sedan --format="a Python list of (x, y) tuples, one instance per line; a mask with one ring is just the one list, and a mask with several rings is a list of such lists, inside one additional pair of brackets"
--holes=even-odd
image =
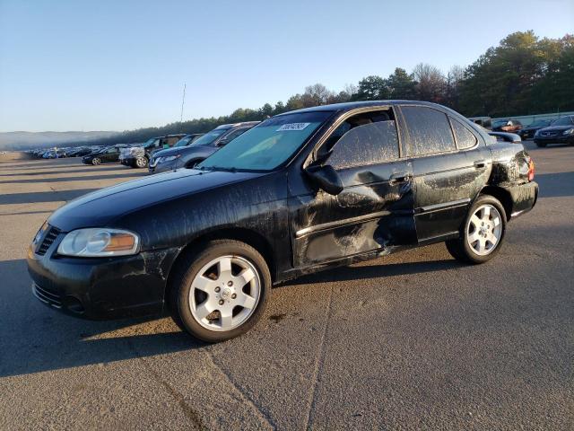
[(300, 278), (215, 346), (39, 303), (39, 225), (144, 172), (2, 155), (0, 429), (573, 429), (574, 148), (526, 145), (540, 198), (496, 259), (438, 244)]

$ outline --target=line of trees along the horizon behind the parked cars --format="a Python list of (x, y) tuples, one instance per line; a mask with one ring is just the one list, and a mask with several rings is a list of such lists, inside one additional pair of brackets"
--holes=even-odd
[(265, 103), (257, 110), (239, 108), (227, 116), (174, 122), (161, 128), (139, 128), (91, 144), (134, 143), (152, 136), (204, 133), (221, 124), (262, 120), (289, 110), (385, 99), (432, 101), (467, 117), (574, 110), (574, 36), (541, 39), (534, 31), (517, 31), (498, 46), (488, 48), (470, 66), (452, 66), (446, 74), (425, 63), (414, 66), (411, 73), (396, 67), (387, 77), (366, 76), (340, 92), (313, 84), (286, 102)]

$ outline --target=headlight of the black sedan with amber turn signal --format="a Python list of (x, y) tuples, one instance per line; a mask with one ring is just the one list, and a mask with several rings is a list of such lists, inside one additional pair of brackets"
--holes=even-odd
[(140, 237), (120, 229), (78, 229), (65, 235), (58, 254), (79, 257), (126, 256), (139, 251)]

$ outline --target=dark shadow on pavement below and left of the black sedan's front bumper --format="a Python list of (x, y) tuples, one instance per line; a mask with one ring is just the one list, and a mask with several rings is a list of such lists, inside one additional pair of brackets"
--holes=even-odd
[(88, 321), (40, 303), (26, 260), (0, 262), (0, 378), (205, 347), (164, 316)]

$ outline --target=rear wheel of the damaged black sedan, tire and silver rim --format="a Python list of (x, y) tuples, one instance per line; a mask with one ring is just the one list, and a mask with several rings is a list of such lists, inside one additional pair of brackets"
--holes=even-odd
[(484, 263), (500, 251), (506, 224), (506, 212), (500, 201), (490, 195), (481, 195), (468, 211), (460, 237), (446, 242), (447, 250), (459, 261)]

